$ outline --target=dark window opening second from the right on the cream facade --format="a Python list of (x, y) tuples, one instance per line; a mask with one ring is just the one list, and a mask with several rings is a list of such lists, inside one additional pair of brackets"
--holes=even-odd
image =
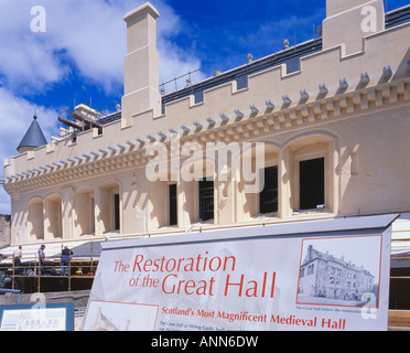
[(259, 193), (259, 213), (278, 212), (278, 167), (263, 168), (259, 172), (265, 183)]

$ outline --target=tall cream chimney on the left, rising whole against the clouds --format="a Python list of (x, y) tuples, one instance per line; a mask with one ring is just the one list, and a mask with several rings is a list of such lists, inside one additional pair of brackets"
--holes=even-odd
[(127, 55), (125, 58), (125, 92), (121, 118), (130, 125), (132, 116), (153, 110), (161, 113), (159, 93), (159, 55), (157, 52), (157, 9), (149, 2), (130, 11), (127, 22)]

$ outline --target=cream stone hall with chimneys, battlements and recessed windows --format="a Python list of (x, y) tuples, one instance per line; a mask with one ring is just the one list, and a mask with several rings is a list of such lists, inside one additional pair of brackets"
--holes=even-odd
[[(95, 127), (4, 161), (12, 245), (410, 212), (410, 23), (386, 29), (381, 0), (327, 0), (322, 49), (302, 56), (298, 71), (268, 67), (249, 74), (246, 87), (231, 81), (205, 89), (201, 101), (187, 95), (162, 104), (158, 18), (149, 3), (125, 17), (120, 119), (98, 126), (80, 105), (76, 113)], [(376, 31), (364, 31), (371, 21)], [(252, 142), (251, 152), (233, 153), (242, 163), (265, 143), (257, 168), (277, 173), (270, 212), (261, 212), (260, 193), (231, 178), (233, 160), (219, 168), (218, 142)], [(190, 154), (207, 143), (215, 143), (209, 165)], [(172, 153), (166, 174), (151, 181), (155, 146)], [(201, 182), (183, 173), (213, 176), (211, 218), (199, 214)]]

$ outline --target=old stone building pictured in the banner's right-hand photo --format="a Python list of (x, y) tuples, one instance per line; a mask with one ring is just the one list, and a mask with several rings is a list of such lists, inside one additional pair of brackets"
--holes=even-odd
[(360, 301), (362, 296), (375, 292), (375, 276), (363, 266), (336, 258), (308, 247), (299, 278), (299, 295), (327, 299)]

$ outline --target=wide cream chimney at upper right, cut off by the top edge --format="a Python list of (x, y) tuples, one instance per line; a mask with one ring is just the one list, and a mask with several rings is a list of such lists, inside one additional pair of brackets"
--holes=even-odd
[(323, 49), (344, 45), (344, 54), (363, 51), (363, 39), (385, 30), (384, 0), (326, 0)]

